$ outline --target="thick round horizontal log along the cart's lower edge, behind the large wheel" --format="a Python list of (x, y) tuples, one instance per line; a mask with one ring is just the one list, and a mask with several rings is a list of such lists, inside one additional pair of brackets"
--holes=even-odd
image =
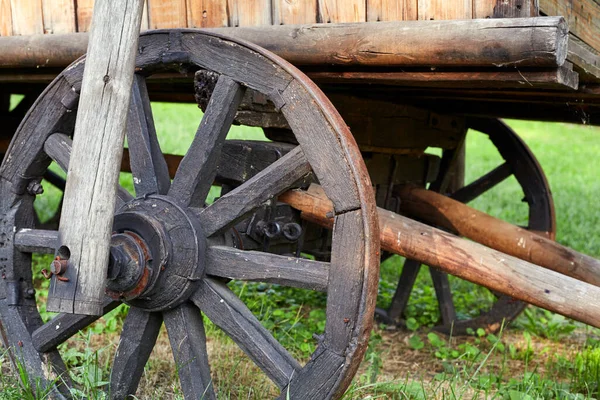
[[(298, 66), (558, 67), (567, 56), (562, 17), (211, 28)], [(66, 66), (85, 34), (0, 38), (0, 68)], [(68, 45), (66, 45), (68, 44)]]

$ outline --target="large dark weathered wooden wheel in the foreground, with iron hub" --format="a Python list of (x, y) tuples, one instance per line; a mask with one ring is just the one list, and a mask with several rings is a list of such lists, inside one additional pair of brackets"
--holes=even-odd
[[(84, 60), (45, 90), (21, 124), (0, 170), (0, 333), (32, 384), (69, 382), (57, 346), (97, 317), (59, 314), (43, 323), (31, 253), (54, 253), (57, 232), (33, 228), (34, 193), (52, 160), (69, 161)], [(208, 109), (174, 180), (160, 151), (145, 80), (160, 72), (217, 76)], [(248, 43), (194, 30), (142, 35), (128, 144), (137, 198), (119, 190), (107, 293), (131, 305), (114, 357), (110, 395), (133, 394), (164, 322), (186, 399), (214, 397), (203, 317), (227, 333), (281, 390), (281, 398), (337, 398), (364, 354), (378, 280), (379, 238), (370, 181), (343, 121), (318, 88), (282, 59)], [(281, 110), (300, 143), (222, 196), (204, 201), (246, 88)], [(190, 90), (192, 86), (190, 85)], [(316, 262), (227, 246), (248, 213), (314, 174), (335, 204), (331, 261)], [(63, 258), (53, 262), (69, 279)], [(235, 268), (231, 268), (235, 266)], [(326, 327), (301, 365), (222, 278), (263, 280), (327, 291)], [(107, 299), (105, 311), (119, 301)], [(218, 351), (218, 350), (217, 350)], [(54, 389), (57, 397), (67, 390)], [(67, 384), (68, 386), (68, 384)]]

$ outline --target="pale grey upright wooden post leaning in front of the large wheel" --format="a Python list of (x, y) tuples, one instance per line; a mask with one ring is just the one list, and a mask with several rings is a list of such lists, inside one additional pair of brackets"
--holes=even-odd
[(101, 315), (144, 1), (97, 0), (75, 124), (48, 311)]

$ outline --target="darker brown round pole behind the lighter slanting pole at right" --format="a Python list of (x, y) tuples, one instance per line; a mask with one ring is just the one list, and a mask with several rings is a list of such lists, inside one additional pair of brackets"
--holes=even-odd
[(400, 212), (533, 264), (600, 286), (600, 261), (459, 201), (406, 185)]

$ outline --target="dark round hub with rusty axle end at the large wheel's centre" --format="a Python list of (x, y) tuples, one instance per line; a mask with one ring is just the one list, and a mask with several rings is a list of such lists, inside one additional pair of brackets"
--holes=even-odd
[(106, 292), (161, 311), (185, 301), (204, 274), (206, 236), (188, 209), (166, 196), (135, 199), (117, 211)]

